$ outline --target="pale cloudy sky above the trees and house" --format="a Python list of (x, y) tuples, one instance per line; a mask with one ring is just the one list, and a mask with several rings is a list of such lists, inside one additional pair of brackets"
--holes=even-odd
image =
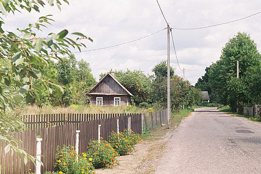
[[(157, 0), (68, 0), (62, 10), (57, 7), (40, 8), (36, 12), (16, 12), (3, 17), (4, 29), (15, 30), (35, 23), (40, 16), (52, 14), (55, 22), (38, 36), (67, 29), (69, 33), (82, 32), (93, 39), (86, 42), (92, 50), (144, 39), (96, 51), (74, 53), (78, 60), (90, 63), (98, 81), (100, 73), (113, 70), (141, 70), (153, 74), (151, 69), (167, 59), (166, 22)], [(171, 28), (200, 28), (237, 20), (261, 12), (261, 0), (158, 0)], [(225, 25), (195, 30), (172, 29), (180, 69), (185, 79), (195, 85), (204, 75), (205, 68), (216, 62), (222, 48), (238, 32), (246, 32), (261, 50), (261, 14)], [(183, 76), (170, 39), (170, 65)], [(78, 50), (72, 50), (76, 52)]]

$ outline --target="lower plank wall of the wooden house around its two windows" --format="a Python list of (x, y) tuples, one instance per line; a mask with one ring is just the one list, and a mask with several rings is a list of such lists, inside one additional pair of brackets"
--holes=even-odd
[(128, 99), (130, 102), (130, 96), (128, 95), (91, 95), (91, 105), (96, 105), (96, 97), (103, 98), (103, 106), (114, 106), (114, 97), (120, 97), (120, 105), (127, 106)]

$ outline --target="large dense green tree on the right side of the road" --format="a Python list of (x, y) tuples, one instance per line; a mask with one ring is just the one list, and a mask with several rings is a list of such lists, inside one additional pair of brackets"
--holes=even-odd
[[(237, 60), (239, 79), (236, 78)], [(243, 111), (248, 103), (261, 102), (261, 55), (256, 44), (245, 32), (237, 33), (222, 49), (220, 60), (206, 69), (196, 87), (207, 90), (212, 102), (229, 104)], [(238, 102), (238, 105), (237, 105)]]

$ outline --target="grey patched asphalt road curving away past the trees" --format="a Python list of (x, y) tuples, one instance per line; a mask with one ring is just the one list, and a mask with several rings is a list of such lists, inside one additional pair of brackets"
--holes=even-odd
[(261, 174), (261, 123), (198, 108), (167, 135), (155, 174)]

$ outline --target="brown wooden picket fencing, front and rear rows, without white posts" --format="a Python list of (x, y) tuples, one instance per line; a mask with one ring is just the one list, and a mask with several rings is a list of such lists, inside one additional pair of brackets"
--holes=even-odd
[[(80, 117), (83, 116), (83, 117)], [(44, 166), (41, 167), (41, 173), (45, 171), (54, 171), (54, 157), (57, 146), (62, 147), (63, 145), (76, 145), (76, 130), (79, 130), (79, 153), (86, 152), (88, 142), (91, 140), (98, 140), (98, 126), (100, 126), (100, 136), (104, 140), (108, 140), (109, 135), (112, 131), (116, 132), (117, 128), (119, 131), (128, 129), (129, 120), (131, 122), (130, 129), (136, 133), (142, 134), (142, 115), (131, 114), (131, 115), (71, 115), (68, 117), (69, 121), (64, 121), (65, 115), (35, 115), (27, 116), (28, 128), (33, 129), (31, 131), (15, 133), (17, 140), (21, 140), (21, 146), (27, 153), (32, 156), (36, 156), (36, 136), (37, 132), (40, 132), (40, 137), (43, 139), (41, 142), (42, 157), (41, 161)], [(46, 119), (48, 118), (48, 119)], [(53, 119), (52, 119), (53, 118)], [(64, 119), (64, 120), (63, 120)], [(117, 119), (119, 127), (117, 127)], [(40, 121), (39, 121), (40, 120)], [(49, 122), (53, 127), (41, 128), (45, 121)], [(30, 122), (31, 121), (31, 122)], [(33, 123), (35, 125), (33, 125)], [(40, 129), (37, 130), (37, 129)], [(1, 174), (29, 174), (35, 172), (35, 166), (31, 161), (27, 165), (23, 164), (23, 160), (19, 159), (16, 154), (12, 155), (11, 152), (4, 153), (4, 144), (0, 144), (0, 164)], [(30, 170), (29, 170), (30, 169)]]

